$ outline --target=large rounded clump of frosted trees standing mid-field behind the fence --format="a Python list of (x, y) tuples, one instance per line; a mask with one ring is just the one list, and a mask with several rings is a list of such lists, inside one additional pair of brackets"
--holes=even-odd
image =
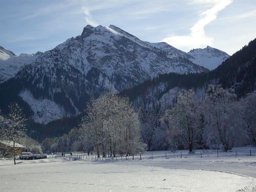
[(115, 93), (103, 93), (98, 99), (92, 99), (88, 106), (88, 115), (82, 118), (81, 130), (86, 142), (94, 146), (97, 155), (116, 152), (135, 152), (139, 145), (139, 119), (128, 98)]

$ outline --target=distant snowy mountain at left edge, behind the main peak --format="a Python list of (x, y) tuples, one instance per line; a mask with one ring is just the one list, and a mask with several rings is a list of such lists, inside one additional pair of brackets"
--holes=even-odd
[(17, 56), (0, 46), (0, 83), (14, 77), (23, 66), (31, 64), (41, 54), (38, 51), (32, 55), (22, 53)]

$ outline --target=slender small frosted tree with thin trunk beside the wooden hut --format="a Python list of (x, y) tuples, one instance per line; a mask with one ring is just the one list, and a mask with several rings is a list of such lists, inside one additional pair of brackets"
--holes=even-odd
[(26, 121), (27, 119), (18, 103), (11, 103), (9, 105), (9, 114), (1, 126), (1, 134), (3, 138), (13, 141), (13, 161), (15, 165), (15, 144), (25, 135)]

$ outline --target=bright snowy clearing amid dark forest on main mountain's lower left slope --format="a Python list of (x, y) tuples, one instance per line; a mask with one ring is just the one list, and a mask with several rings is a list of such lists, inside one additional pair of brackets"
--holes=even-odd
[(66, 115), (69, 116), (63, 107), (54, 101), (35, 99), (28, 90), (23, 90), (19, 93), (19, 96), (30, 105), (32, 111), (34, 111), (34, 121), (37, 123), (47, 124), (55, 119), (60, 119)]

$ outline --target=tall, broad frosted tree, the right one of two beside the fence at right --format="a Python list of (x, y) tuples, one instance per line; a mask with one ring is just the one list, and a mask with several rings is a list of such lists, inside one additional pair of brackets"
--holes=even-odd
[(209, 85), (205, 95), (205, 137), (209, 146), (232, 148), (238, 137), (244, 136), (245, 123), (233, 89)]

